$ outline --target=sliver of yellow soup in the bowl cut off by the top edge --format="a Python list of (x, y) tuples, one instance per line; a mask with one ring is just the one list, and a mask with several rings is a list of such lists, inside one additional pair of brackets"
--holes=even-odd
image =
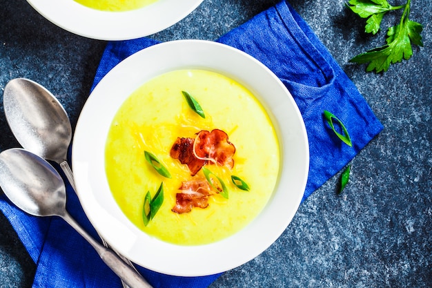
[(104, 11), (127, 11), (142, 8), (157, 0), (75, 0), (89, 8)]

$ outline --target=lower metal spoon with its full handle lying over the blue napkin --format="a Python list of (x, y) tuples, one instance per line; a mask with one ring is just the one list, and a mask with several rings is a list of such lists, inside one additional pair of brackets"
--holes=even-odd
[(132, 288), (151, 287), (112, 250), (88, 235), (66, 211), (66, 188), (59, 173), (46, 160), (21, 148), (0, 153), (0, 186), (23, 211), (35, 216), (57, 215), (91, 245), (106, 265)]

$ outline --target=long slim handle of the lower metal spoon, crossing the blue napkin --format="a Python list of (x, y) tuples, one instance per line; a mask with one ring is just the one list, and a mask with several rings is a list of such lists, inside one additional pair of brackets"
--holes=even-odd
[(153, 288), (148, 282), (135, 271), (132, 267), (126, 264), (116, 253), (112, 250), (102, 246), (99, 242), (95, 241), (88, 233), (82, 229), (82, 227), (75, 221), (72, 216), (65, 211), (63, 215), (61, 215), (70, 226), (75, 229), (81, 236), (86, 239), (90, 245), (97, 251), (101, 259), (110, 267), (114, 273), (119, 276), (121, 280), (123, 280), (130, 288)]

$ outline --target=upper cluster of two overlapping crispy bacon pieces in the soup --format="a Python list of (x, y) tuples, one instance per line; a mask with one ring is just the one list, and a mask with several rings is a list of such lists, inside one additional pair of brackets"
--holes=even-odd
[(228, 141), (228, 135), (219, 129), (199, 131), (195, 139), (178, 137), (170, 151), (171, 157), (188, 165), (190, 175), (198, 173), (207, 162), (233, 169), (234, 153), (235, 146)]

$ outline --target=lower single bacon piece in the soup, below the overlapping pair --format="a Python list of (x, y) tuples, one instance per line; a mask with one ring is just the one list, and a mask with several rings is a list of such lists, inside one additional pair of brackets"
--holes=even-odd
[(175, 195), (175, 207), (171, 211), (175, 213), (188, 213), (193, 207), (208, 207), (210, 185), (206, 180), (190, 180), (181, 182), (181, 193)]

